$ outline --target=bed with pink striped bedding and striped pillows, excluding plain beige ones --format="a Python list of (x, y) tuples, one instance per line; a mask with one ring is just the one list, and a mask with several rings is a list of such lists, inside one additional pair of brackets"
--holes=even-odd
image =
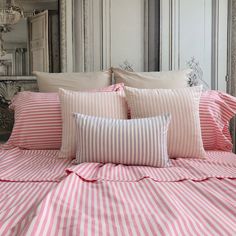
[(0, 235), (236, 235), (236, 98), (119, 82), (16, 96), (0, 146)]

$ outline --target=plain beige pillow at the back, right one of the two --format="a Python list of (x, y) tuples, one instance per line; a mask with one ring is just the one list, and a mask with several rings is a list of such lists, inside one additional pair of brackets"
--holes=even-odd
[(119, 68), (112, 68), (115, 83), (124, 83), (134, 88), (185, 88), (188, 87), (188, 70), (164, 72), (130, 72)]

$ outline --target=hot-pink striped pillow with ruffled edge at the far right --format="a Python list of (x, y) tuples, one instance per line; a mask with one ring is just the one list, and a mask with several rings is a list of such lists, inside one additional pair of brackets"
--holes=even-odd
[(220, 91), (206, 91), (199, 109), (205, 150), (232, 151), (229, 122), (236, 114), (236, 98)]

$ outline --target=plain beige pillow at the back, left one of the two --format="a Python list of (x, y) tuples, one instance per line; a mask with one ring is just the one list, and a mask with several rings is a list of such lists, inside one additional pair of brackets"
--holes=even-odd
[(33, 72), (37, 76), (40, 92), (58, 92), (59, 88), (81, 91), (111, 85), (111, 71), (81, 73)]

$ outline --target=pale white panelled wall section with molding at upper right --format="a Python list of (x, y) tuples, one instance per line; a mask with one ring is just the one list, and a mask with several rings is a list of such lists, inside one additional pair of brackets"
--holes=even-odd
[(161, 69), (184, 69), (194, 57), (209, 87), (226, 91), (227, 0), (219, 0), (216, 13), (212, 0), (162, 0), (161, 15)]

